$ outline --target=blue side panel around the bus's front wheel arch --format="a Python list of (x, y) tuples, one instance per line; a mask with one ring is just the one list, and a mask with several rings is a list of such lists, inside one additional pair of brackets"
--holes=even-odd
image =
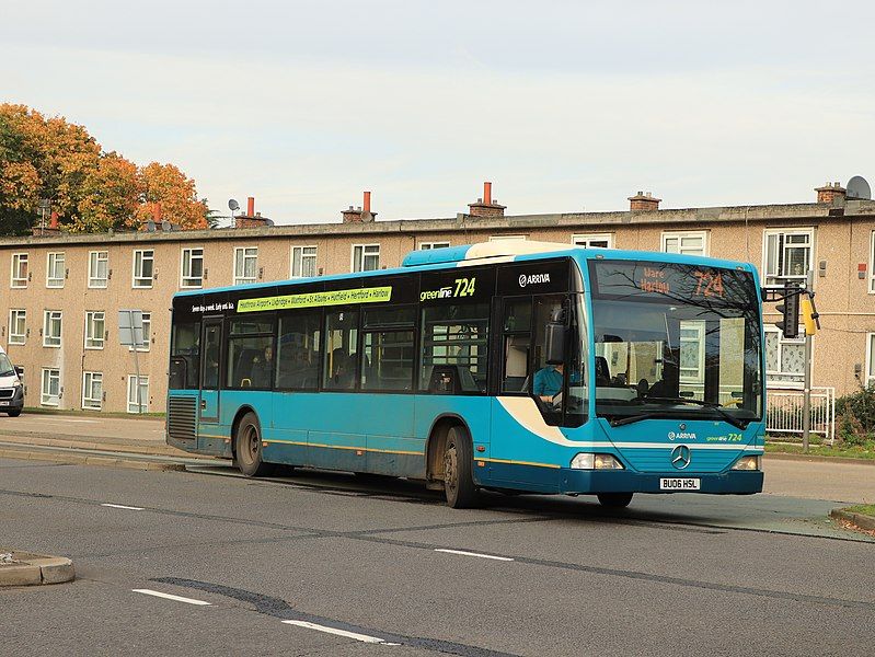
[[(474, 481), (485, 484), (487, 479), (486, 468), (476, 463), (477, 459), (486, 458), (490, 453), (490, 416), (492, 414), (490, 397), (471, 395), (456, 396), (446, 394), (416, 395), (416, 414), (414, 435), (423, 443), (428, 440), (431, 427), (438, 417), (444, 415), (458, 416), (468, 425), (474, 447), (473, 468)], [(483, 451), (480, 451), (480, 450)], [(423, 469), (425, 468), (425, 453), (423, 453)]]

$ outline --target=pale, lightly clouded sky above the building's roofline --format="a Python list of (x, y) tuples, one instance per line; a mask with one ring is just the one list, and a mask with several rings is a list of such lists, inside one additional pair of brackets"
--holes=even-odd
[(338, 221), (811, 203), (875, 181), (875, 2), (0, 3), (0, 102)]

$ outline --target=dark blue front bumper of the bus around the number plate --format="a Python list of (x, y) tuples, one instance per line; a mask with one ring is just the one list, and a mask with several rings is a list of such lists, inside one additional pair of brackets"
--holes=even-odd
[[(670, 488), (663, 480), (698, 480), (699, 488)], [(643, 473), (629, 470), (572, 470), (563, 468), (560, 476), (562, 493), (709, 493), (715, 495), (752, 495), (762, 492), (762, 471), (729, 471), (721, 473), (660, 472)]]

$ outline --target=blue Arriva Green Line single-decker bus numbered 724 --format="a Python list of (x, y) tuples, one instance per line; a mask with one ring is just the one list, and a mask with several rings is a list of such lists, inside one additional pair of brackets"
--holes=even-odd
[(762, 489), (752, 265), (490, 242), (401, 267), (173, 298), (168, 442), (233, 459), (482, 488)]

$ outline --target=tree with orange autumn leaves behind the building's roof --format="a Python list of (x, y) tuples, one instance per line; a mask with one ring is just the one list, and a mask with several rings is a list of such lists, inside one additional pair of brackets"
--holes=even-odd
[(105, 152), (83, 126), (0, 104), (0, 234), (26, 233), (41, 199), (70, 232), (140, 228), (159, 204), (184, 229), (207, 227), (206, 201), (173, 164), (140, 169)]

